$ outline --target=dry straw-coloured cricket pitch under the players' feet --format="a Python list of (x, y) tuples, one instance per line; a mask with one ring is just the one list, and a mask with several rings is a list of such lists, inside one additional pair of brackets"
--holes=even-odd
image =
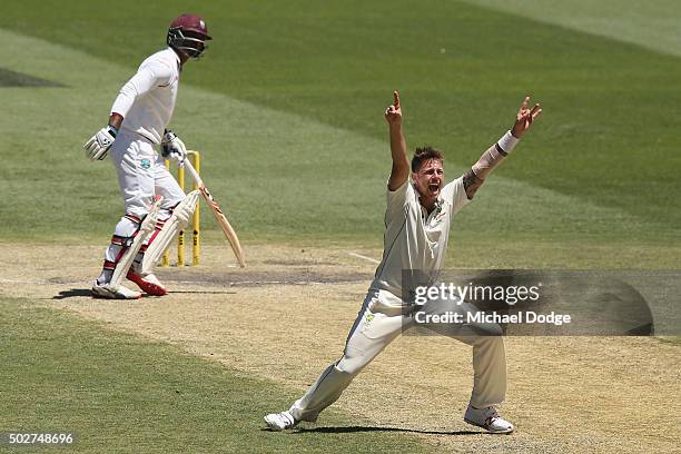
[[(101, 246), (0, 245), (0, 294), (165, 340), (245, 374), (286, 385), (292, 402), (339, 357), (379, 250), (246, 245), (204, 247), (198, 268), (159, 268), (171, 293), (110, 302), (89, 296)], [(131, 285), (134, 286), (134, 285)], [(462, 421), (470, 347), (443, 337), (393, 343), (336, 404), (376, 427), (397, 427), (447, 452), (674, 452), (681, 347), (649, 337), (510, 337), (511, 436)], [(284, 408), (272, 408), (282, 411)], [(319, 425), (324, 425), (324, 415)]]

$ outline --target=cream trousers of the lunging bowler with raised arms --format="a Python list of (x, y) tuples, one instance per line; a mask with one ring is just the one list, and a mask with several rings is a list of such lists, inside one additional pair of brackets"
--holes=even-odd
[[(396, 306), (401, 299), (385, 290), (369, 290), (355, 320), (340, 361), (330, 364), (290, 408), (300, 421), (317, 415), (340, 397), (353, 378), (405, 328)], [(506, 395), (506, 354), (502, 336), (484, 336), (472, 325), (462, 325), (451, 335), (473, 347), (473, 392), (471, 405), (484, 408), (500, 405)], [(499, 325), (494, 325), (499, 328)], [(408, 326), (406, 326), (408, 328)], [(495, 329), (492, 329), (494, 332)]]

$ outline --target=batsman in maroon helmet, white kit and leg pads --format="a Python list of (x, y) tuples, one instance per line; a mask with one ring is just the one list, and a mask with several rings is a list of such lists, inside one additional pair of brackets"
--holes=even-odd
[[(139, 292), (111, 282), (119, 266), (126, 268), (119, 269), (122, 276), (146, 294), (167, 294), (152, 268), (172, 237), (187, 226), (196, 208), (198, 191), (185, 195), (166, 169), (164, 157), (181, 165), (187, 155), (182, 140), (166, 127), (175, 109), (184, 65), (189, 59), (200, 58), (210, 39), (200, 17), (181, 14), (175, 19), (168, 29), (168, 47), (142, 61), (114, 101), (108, 125), (83, 146), (91, 160), (111, 156), (125, 201), (125, 215), (116, 225), (101, 274), (92, 284), (95, 297), (135, 299), (141, 296)], [(154, 149), (158, 145), (162, 157)], [(162, 200), (155, 229), (139, 253), (128, 257), (126, 251), (140, 231), (156, 196)]]

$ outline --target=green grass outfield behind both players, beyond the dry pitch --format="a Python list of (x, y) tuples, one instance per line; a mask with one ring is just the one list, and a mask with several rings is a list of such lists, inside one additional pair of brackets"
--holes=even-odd
[[(29, 0), (0, 18), (1, 66), (66, 86), (1, 89), (12, 112), (0, 125), (2, 238), (106, 241), (120, 214), (110, 164), (87, 161), (80, 146), (189, 3), (121, 1), (112, 14), (101, 4)], [(677, 57), (456, 1), (276, 4), (203, 2), (215, 40), (187, 65), (172, 122), (204, 151), (205, 179), (245, 239), (379, 246), (392, 90), (409, 145), (443, 148), (450, 177), (532, 92), (544, 118), (455, 238), (606, 246), (596, 266), (636, 267), (630, 247), (660, 248), (645, 267), (678, 265)], [(609, 4), (619, 3), (592, 13)]]

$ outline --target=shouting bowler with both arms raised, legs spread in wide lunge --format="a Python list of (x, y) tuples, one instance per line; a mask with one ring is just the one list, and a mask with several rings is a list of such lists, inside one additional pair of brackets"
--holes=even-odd
[[(404, 307), (408, 305), (402, 296), (403, 270), (427, 270), (434, 276), (440, 273), (452, 217), (468, 204), (542, 112), (539, 103), (530, 108), (530, 97), (526, 97), (512, 129), (468, 171), (444, 185), (441, 151), (417, 148), (409, 166), (397, 91), (394, 98), (394, 103), (385, 110), (393, 168), (387, 181), (383, 259), (351, 328), (343, 356), (289, 409), (265, 416), (270, 428), (286, 430), (300, 421), (316, 421), (324, 408), (340, 397), (353, 378), (401, 334), (405, 326)], [(492, 433), (513, 432), (513, 425), (496, 411), (506, 393), (503, 337), (476, 334), (474, 329), (454, 337), (473, 347), (473, 392), (464, 421)]]

